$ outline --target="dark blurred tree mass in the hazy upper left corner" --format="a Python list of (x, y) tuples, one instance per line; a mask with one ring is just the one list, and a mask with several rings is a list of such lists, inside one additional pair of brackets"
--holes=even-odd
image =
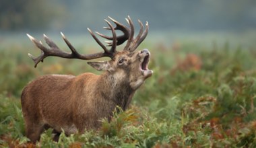
[(0, 30), (45, 29), (55, 17), (63, 14), (62, 8), (50, 0), (1, 0)]

